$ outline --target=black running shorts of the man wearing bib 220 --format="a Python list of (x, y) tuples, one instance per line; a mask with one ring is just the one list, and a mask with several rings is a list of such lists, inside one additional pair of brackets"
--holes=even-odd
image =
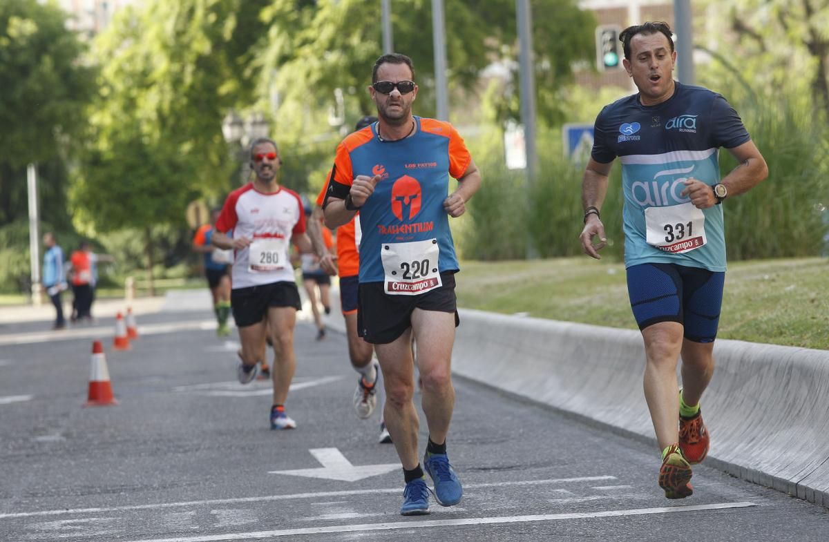
[(455, 273), (440, 273), (443, 285), (415, 296), (385, 293), (383, 283), (361, 283), (357, 296), (357, 332), (372, 344), (388, 344), (411, 327), (415, 308), (424, 311), (454, 312), (455, 327), (460, 324)]

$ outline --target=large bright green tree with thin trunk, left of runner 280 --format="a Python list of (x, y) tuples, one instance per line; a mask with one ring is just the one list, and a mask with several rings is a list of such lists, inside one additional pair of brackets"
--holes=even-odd
[[(221, 194), (235, 168), (221, 119), (250, 98), (265, 0), (151, 0), (95, 43), (100, 90), (71, 196), (85, 230), (183, 225), (187, 203)], [(151, 285), (151, 293), (152, 293)]]

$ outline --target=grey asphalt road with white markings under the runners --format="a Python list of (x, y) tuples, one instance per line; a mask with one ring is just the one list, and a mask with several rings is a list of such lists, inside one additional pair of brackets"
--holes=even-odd
[[(646, 443), (464, 380), (448, 439), (463, 501), (400, 516), (400, 465), (353, 412), (344, 337), (300, 323), (298, 428), (275, 432), (269, 382), (235, 381), (237, 339), (211, 316), (143, 316), (130, 351), (112, 319), (0, 326), (0, 540), (829, 540), (827, 509), (704, 466), (668, 501)], [(117, 406), (81, 406), (94, 336)]]

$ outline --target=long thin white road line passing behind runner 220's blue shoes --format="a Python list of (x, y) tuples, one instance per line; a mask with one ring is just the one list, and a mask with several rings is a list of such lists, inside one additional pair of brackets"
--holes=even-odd
[[(616, 480), (616, 477), (575, 477), (575, 478), (550, 478), (547, 480), (518, 480), (516, 482), (490, 482), (482, 484), (464, 484), (467, 489), (478, 489), (483, 487), (505, 487), (505, 486), (545, 486), (547, 484), (566, 484), (570, 482), (600, 482)], [(133, 506), (111, 506), (105, 508), (70, 508), (61, 510), (45, 510), (37, 512), (16, 512), (0, 514), (0, 520), (16, 519), (21, 517), (32, 517), (36, 515), (65, 515), (65, 514), (100, 514), (101, 512), (121, 512), (130, 510), (160, 510), (163, 508), (178, 508), (184, 506), (205, 506), (205, 505), (235, 505), (248, 502), (269, 502), (269, 501), (292, 501), (293, 499), (320, 499), (323, 497), (351, 497), (356, 495), (371, 495), (373, 493), (399, 494), (400, 487), (389, 489), (354, 489), (349, 491), (318, 491), (314, 493), (292, 493), (288, 495), (268, 495), (257, 497), (238, 497), (235, 499), (209, 499), (206, 501), (181, 501), (181, 502), (159, 502), (152, 505)]]

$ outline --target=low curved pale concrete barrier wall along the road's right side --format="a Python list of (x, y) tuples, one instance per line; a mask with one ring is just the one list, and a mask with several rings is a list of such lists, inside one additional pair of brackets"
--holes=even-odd
[[(461, 322), (456, 374), (654, 440), (638, 331), (473, 310)], [(714, 354), (705, 463), (829, 506), (829, 351), (718, 340)]]

